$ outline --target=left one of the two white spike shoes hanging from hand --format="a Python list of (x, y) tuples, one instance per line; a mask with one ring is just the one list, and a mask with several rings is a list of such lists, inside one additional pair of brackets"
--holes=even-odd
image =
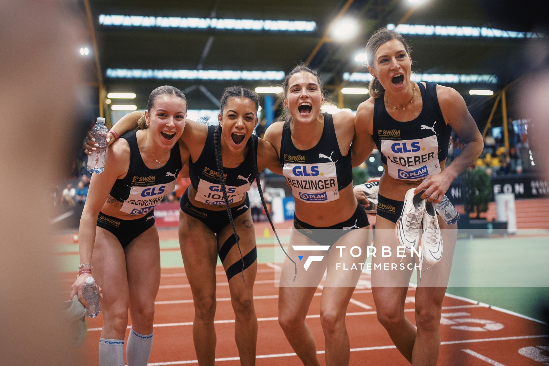
[(396, 243), (404, 246), (407, 253), (411, 253), (412, 248), (417, 251), (421, 234), (421, 221), (425, 211), (425, 200), (420, 198), (423, 190), (418, 194), (413, 194), (414, 190), (416, 188), (411, 188), (406, 192), (404, 207), (402, 207), (402, 213), (395, 226)]

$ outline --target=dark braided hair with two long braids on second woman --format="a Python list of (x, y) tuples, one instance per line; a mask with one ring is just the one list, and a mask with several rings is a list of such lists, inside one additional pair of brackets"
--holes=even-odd
[[(225, 109), (225, 104), (227, 104), (227, 100), (231, 97), (243, 97), (248, 98), (252, 100), (255, 104), (255, 110), (257, 112), (257, 109), (259, 109), (259, 95), (257, 95), (256, 92), (251, 91), (250, 89), (243, 88), (240, 86), (231, 86), (225, 89), (223, 91), (223, 95), (221, 95), (221, 104), (220, 104), (220, 113), (223, 115), (223, 109)], [(234, 219), (233, 214), (231, 211), (231, 204), (229, 204), (229, 199), (227, 196), (227, 189), (225, 185), (225, 176), (223, 175), (223, 158), (221, 156), (221, 132), (222, 132), (222, 126), (218, 125), (214, 131), (214, 153), (215, 153), (215, 160), (217, 164), (217, 173), (219, 174), (219, 180), (221, 183), (221, 191), (223, 193), (223, 200), (225, 200), (225, 206), (227, 207), (227, 214), (229, 216), (229, 221), (231, 222), (231, 227), (233, 228), (233, 234), (234, 238), (237, 241), (238, 251), (240, 253), (240, 260), (242, 261), (242, 280), (245, 282), (244, 279), (244, 257), (242, 256), (242, 250), (240, 250), (240, 238), (238, 237), (236, 227), (234, 226)], [(280, 239), (278, 239), (278, 234), (275, 229), (275, 225), (272, 222), (271, 215), (269, 215), (269, 211), (267, 210), (267, 204), (265, 203), (265, 199), (263, 198), (263, 190), (261, 189), (261, 183), (259, 181), (259, 172), (257, 172), (257, 156), (255, 154), (255, 142), (252, 137), (248, 139), (248, 142), (246, 143), (248, 148), (248, 154), (251, 154), (252, 159), (252, 175), (253, 179), (251, 181), (253, 182), (254, 179), (257, 182), (257, 190), (259, 191), (259, 195), (261, 197), (261, 202), (263, 204), (263, 207), (265, 209), (265, 213), (267, 214), (267, 218), (269, 222), (271, 223), (271, 228), (273, 229), (273, 232), (275, 232), (276, 239), (278, 240), (278, 245), (282, 248), (282, 251), (284, 254), (294, 263), (295, 266), (295, 274), (294, 274), (294, 280), (295, 276), (297, 275), (298, 267), (297, 264), (290, 258), (287, 254), (287, 252), (284, 250), (284, 247), (282, 246), (282, 243), (280, 242)]]

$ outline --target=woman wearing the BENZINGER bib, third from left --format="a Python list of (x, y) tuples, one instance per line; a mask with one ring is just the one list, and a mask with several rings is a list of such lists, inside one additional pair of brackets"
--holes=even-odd
[[(295, 230), (290, 235), (288, 254), (308, 257), (304, 266), (298, 267), (295, 283), (293, 266), (288, 261), (283, 264), (278, 320), (301, 361), (305, 365), (320, 365), (305, 317), (327, 269), (320, 305), (326, 364), (345, 365), (350, 357), (345, 313), (362, 271), (344, 270), (337, 264), (348, 269), (352, 264), (360, 267), (371, 236), (366, 212), (358, 205), (352, 189), (350, 145), (355, 135), (354, 116), (343, 111), (333, 116), (321, 113), (322, 83), (316, 71), (307, 66), (296, 66), (282, 87), (286, 113), (282, 121), (267, 129), (265, 139), (277, 150), (295, 198)], [(357, 257), (350, 257), (352, 246), (360, 247), (361, 255), (355, 251)], [(324, 251), (307, 250), (315, 247)], [(303, 248), (305, 251), (300, 252)], [(313, 254), (317, 261), (311, 262)]]

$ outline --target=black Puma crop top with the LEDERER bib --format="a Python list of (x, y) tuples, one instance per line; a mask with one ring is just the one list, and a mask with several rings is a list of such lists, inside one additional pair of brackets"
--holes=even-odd
[(446, 125), (436, 97), (436, 83), (417, 83), (423, 108), (416, 119), (399, 122), (385, 109), (383, 98), (374, 101), (373, 139), (383, 164), (395, 179), (417, 181), (441, 172), (448, 155), (452, 128)]

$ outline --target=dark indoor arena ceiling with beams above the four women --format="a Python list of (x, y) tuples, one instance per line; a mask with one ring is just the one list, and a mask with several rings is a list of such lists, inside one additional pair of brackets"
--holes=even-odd
[[(509, 3), (509, 5), (507, 5)], [(527, 2), (529, 3), (529, 2)], [(288, 72), (300, 61), (309, 60), (327, 85), (329, 98), (355, 110), (367, 95), (344, 94), (340, 87), (367, 87), (365, 82), (346, 81), (345, 73), (363, 72), (366, 68), (355, 61), (369, 35), (387, 24), (488, 27), (489, 29), (537, 31), (540, 9), (521, 8), (516, 2), (474, 0), (427, 0), (413, 8), (408, 0), (89, 0), (91, 20), (97, 40), (99, 64), (105, 90), (137, 94), (131, 104), (144, 108), (150, 91), (160, 85), (173, 85), (186, 90), (189, 108), (215, 109), (228, 85), (249, 88), (276, 86), (279, 80), (192, 80), (151, 78), (113, 78), (113, 70), (249, 70)], [(521, 4), (522, 5), (522, 4)], [(86, 14), (86, 3), (81, 9)], [(356, 19), (360, 31), (350, 41), (329, 39), (328, 30), (334, 18), (343, 15)], [(537, 10), (537, 12), (536, 12)], [(525, 13), (525, 14), (524, 14)], [(523, 15), (520, 15), (523, 14)], [(136, 20), (133, 26), (117, 25), (117, 20), (100, 15), (133, 15), (151, 17)], [(162, 17), (162, 18), (157, 18)], [(172, 19), (169, 17), (183, 18)], [(274, 31), (267, 26), (259, 30), (219, 29), (219, 27), (158, 26), (161, 21), (184, 22), (188, 18), (296, 20), (316, 22), (312, 31)], [(83, 18), (86, 19), (86, 18)], [(126, 20), (127, 20), (126, 19)], [(164, 19), (164, 20), (163, 20)], [(167, 19), (167, 20), (166, 20)], [(105, 25), (109, 23), (111, 25)], [(155, 21), (157, 26), (137, 26), (139, 21)], [(179, 24), (179, 23), (177, 23)], [(190, 24), (190, 23), (189, 23)], [(231, 28), (226, 23), (226, 28)], [(266, 24), (266, 23), (265, 23)], [(310, 26), (300, 25), (300, 26)], [(238, 27), (237, 27), (238, 28)], [(328, 39), (323, 38), (328, 34)], [(414, 71), (421, 74), (496, 75), (496, 83), (452, 83), (468, 104), (486, 97), (470, 96), (469, 89), (483, 88), (497, 92), (516, 80), (526, 69), (527, 44), (545, 40), (512, 37), (457, 37), (438, 35), (405, 35), (411, 43)], [(322, 42), (322, 40), (327, 42)], [(94, 75), (92, 35), (87, 61), (90, 85), (97, 86)], [(320, 47), (319, 47), (320, 46)], [(531, 47), (531, 46), (528, 46)], [(315, 52), (316, 49), (316, 52)], [(108, 71), (108, 70), (111, 71)], [(116, 72), (122, 72), (120, 70)], [(127, 72), (127, 71), (126, 71)], [(145, 72), (145, 71), (143, 71)], [(120, 74), (117, 74), (120, 75)], [(122, 75), (124, 73), (122, 72)], [(196, 74), (195, 74), (196, 75)], [(117, 101), (120, 104), (120, 101)], [(488, 103), (486, 103), (488, 105)], [(489, 107), (488, 107), (489, 109)]]

